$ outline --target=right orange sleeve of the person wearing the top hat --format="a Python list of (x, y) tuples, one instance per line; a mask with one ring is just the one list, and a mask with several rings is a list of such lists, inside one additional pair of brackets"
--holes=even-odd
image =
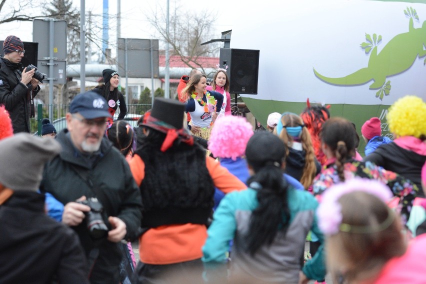
[(239, 180), (235, 175), (230, 173), (227, 168), (220, 165), (215, 159), (210, 156), (205, 158), (205, 164), (208, 172), (213, 179), (213, 184), (220, 191), (229, 193), (233, 190), (241, 190), (247, 188), (247, 185)]

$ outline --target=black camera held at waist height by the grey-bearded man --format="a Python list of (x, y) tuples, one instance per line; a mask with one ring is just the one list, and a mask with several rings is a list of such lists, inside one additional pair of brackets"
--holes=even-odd
[(90, 207), (90, 211), (84, 212), (86, 215), (87, 229), (90, 236), (94, 239), (104, 238), (108, 235), (108, 227), (102, 219), (102, 204), (96, 197), (87, 198), (87, 200), (76, 201)]

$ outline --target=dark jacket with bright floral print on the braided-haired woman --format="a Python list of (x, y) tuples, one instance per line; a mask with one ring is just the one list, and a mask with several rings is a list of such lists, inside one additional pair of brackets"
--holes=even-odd
[[(312, 190), (314, 195), (320, 195), (331, 185), (340, 182), (337, 174), (335, 160), (330, 160), (325, 168), (314, 178)], [(400, 212), (403, 223), (408, 220), (414, 197), (418, 192), (418, 187), (411, 180), (389, 170), (385, 170), (372, 162), (362, 162), (348, 160), (343, 165), (344, 178), (350, 179), (354, 176), (376, 179), (385, 183), (393, 195), (399, 197), (397, 211)], [(319, 197), (319, 198), (318, 198)], [(320, 200), (320, 196), (317, 196)]]

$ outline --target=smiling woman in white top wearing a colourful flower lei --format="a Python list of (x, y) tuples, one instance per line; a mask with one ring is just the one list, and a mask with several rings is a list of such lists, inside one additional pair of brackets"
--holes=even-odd
[(222, 107), (223, 95), (216, 91), (206, 91), (207, 78), (202, 74), (193, 75), (182, 90), (186, 94), (186, 112), (191, 114), (189, 122), (193, 135), (207, 139)]

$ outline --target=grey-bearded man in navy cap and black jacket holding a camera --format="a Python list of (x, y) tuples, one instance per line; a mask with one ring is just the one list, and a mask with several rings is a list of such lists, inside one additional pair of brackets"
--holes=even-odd
[(73, 228), (88, 261), (90, 283), (119, 282), (119, 242), (136, 238), (140, 191), (124, 156), (104, 136), (108, 103), (88, 91), (71, 101), (62, 150), (46, 163), (40, 184), (63, 203), (62, 222)]

